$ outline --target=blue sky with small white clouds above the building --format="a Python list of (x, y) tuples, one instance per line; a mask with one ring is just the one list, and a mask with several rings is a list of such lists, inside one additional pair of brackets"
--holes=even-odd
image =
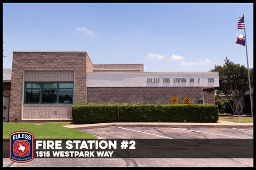
[(3, 4), (3, 68), (13, 50), (87, 51), (94, 64), (143, 63), (145, 71), (209, 71), (228, 57), (246, 67), (236, 44), (245, 13), (253, 67), (252, 3)]

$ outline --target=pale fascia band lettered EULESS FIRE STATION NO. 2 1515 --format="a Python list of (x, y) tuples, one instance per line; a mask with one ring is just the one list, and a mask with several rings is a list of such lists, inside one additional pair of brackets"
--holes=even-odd
[(212, 88), (219, 87), (219, 75), (218, 72), (87, 72), (87, 87)]

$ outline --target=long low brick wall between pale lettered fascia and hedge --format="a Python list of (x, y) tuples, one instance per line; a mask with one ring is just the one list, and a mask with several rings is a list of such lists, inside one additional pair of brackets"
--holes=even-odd
[(192, 104), (203, 99), (202, 87), (87, 87), (87, 98), (92, 104), (171, 104), (171, 96), (178, 103), (187, 96)]

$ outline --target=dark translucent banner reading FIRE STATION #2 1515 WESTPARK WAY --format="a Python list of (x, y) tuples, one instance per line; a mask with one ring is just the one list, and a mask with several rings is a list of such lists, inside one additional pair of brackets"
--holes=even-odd
[[(9, 145), (3, 140), (3, 158)], [(35, 139), (34, 157), (253, 158), (253, 139)]]

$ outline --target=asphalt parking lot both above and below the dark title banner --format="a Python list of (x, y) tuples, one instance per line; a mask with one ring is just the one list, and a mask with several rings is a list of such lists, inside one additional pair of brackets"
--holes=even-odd
[[(82, 129), (106, 139), (253, 139), (253, 129), (117, 127)], [(253, 158), (36, 158), (3, 167), (253, 167)]]

